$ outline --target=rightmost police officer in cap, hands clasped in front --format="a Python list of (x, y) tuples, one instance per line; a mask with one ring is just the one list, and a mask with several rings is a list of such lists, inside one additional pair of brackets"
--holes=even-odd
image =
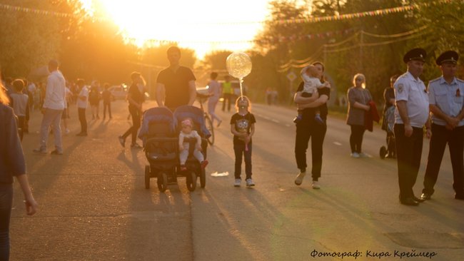
[(432, 138), (425, 169), (424, 189), (420, 198), (430, 200), (437, 182), (446, 144), (450, 148), (453, 166), (455, 199), (464, 200), (464, 81), (455, 78), (458, 53), (445, 51), (438, 56), (442, 76), (428, 83), (430, 112), (432, 112)]

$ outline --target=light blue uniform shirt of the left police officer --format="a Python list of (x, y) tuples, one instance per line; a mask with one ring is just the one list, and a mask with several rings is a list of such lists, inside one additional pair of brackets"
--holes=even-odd
[[(406, 101), (410, 125), (422, 128), (428, 119), (428, 94), (423, 81), (406, 72), (398, 77), (394, 87), (395, 101)], [(395, 123), (403, 124), (398, 108), (395, 108)]]

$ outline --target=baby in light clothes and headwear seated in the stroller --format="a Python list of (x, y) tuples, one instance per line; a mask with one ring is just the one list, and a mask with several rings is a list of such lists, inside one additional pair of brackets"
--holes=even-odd
[(208, 160), (205, 160), (203, 153), (201, 153), (201, 137), (196, 131), (193, 131), (192, 119), (186, 118), (185, 120), (181, 121), (181, 126), (182, 130), (181, 133), (179, 133), (179, 159), (181, 160), (181, 171), (187, 170), (186, 160), (188, 157), (189, 143), (183, 141), (185, 138), (196, 139), (196, 146), (195, 150), (193, 150), (193, 156), (200, 162), (201, 168), (205, 168), (206, 165), (208, 165)]

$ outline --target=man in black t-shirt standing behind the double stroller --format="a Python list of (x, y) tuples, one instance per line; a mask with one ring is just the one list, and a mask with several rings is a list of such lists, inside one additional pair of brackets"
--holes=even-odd
[(178, 106), (193, 105), (196, 98), (195, 76), (190, 68), (181, 66), (181, 50), (171, 46), (167, 51), (170, 66), (156, 79), (156, 103), (174, 111)]

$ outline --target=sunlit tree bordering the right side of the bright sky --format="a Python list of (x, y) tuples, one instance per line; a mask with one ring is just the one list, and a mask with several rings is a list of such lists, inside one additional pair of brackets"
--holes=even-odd
[[(293, 23), (292, 19), (304, 19), (309, 15), (306, 6), (309, 1), (271, 1), (269, 9), (271, 16), (265, 21), (263, 31), (255, 39), (257, 53), (260, 56), (253, 58), (253, 70), (246, 81), (253, 84), (249, 93), (259, 99), (263, 99), (263, 93), (267, 88), (275, 88), (283, 101), (290, 101), (291, 93), (286, 74), (277, 73), (281, 64), (290, 58), (303, 56), (307, 52), (301, 37), (303, 24)], [(290, 22), (289, 22), (290, 21)], [(259, 74), (258, 74), (259, 73)]]

